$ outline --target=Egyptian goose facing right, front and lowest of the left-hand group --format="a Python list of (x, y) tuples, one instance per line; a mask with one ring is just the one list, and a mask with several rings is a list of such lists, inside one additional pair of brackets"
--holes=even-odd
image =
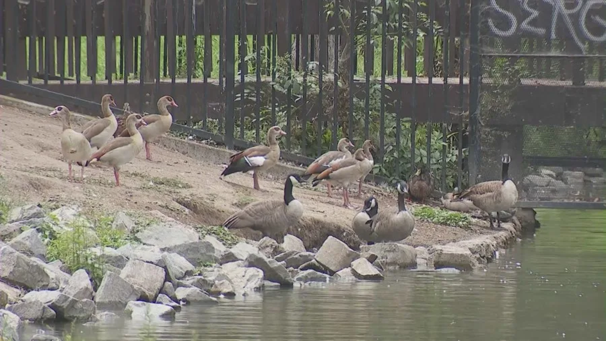
[(113, 139), (88, 159), (87, 165), (90, 161), (96, 159), (112, 166), (116, 177), (116, 186), (120, 186), (120, 167), (133, 160), (143, 149), (143, 138), (135, 127), (137, 123), (141, 123), (143, 126), (147, 124), (138, 113), (130, 114), (126, 119), (126, 129), (128, 129), (130, 136)]

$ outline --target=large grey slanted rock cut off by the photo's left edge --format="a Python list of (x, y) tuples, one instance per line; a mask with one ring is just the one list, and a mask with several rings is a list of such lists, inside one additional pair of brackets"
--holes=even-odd
[(0, 279), (28, 289), (47, 288), (50, 277), (44, 267), (10, 246), (0, 247)]

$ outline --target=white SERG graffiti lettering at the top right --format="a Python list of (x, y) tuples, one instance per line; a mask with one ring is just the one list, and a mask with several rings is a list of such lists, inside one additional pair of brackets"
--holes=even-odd
[[(582, 52), (586, 51), (587, 42), (606, 42), (606, 0), (533, 1), (547, 4), (538, 8), (531, 6), (529, 0), (507, 1), (511, 1), (509, 6), (489, 0), (488, 27), (495, 36), (533, 35), (553, 40), (562, 38), (558, 37), (558, 30), (564, 29)], [(516, 14), (511, 6), (518, 7)]]

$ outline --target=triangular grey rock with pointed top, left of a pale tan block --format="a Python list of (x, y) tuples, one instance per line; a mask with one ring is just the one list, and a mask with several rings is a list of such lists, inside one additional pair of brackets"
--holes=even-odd
[(95, 303), (108, 309), (122, 309), (129, 301), (136, 300), (140, 292), (131, 283), (114, 272), (106, 272), (95, 294)]

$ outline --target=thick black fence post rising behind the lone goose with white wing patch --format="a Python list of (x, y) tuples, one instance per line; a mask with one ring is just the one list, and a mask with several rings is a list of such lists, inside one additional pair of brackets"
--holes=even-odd
[[(234, 13), (236, 0), (225, 0), (225, 13)], [(225, 16), (225, 146), (233, 149), (233, 118), (234, 118), (234, 93), (235, 82), (235, 42), (234, 42), (234, 17)]]

